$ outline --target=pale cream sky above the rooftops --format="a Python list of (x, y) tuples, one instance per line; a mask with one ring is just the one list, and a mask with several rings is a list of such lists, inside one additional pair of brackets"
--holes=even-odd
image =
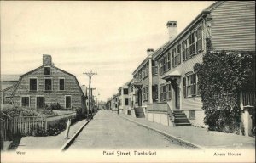
[(106, 101), (132, 79), (148, 48), (168, 41), (166, 23), (177, 33), (213, 1), (83, 2), (1, 1), (1, 74), (19, 74), (42, 65), (56, 67), (89, 85)]

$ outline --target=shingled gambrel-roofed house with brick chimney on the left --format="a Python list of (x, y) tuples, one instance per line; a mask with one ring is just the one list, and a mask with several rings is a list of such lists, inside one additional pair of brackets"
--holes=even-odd
[(20, 76), (13, 92), (15, 105), (45, 108), (59, 103), (64, 109), (82, 109), (84, 93), (76, 76), (55, 67), (50, 55), (43, 55), (43, 65)]

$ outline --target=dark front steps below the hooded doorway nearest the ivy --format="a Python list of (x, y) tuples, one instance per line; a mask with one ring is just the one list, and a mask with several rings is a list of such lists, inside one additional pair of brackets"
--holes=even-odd
[(174, 117), (173, 122), (175, 126), (191, 126), (189, 119), (182, 110), (173, 110), (172, 115)]

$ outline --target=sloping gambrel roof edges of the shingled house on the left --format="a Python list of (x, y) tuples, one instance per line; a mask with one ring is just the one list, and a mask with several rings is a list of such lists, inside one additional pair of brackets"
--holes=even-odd
[[(18, 88), (19, 85), (20, 85), (20, 81), (22, 80), (22, 78), (23, 78), (24, 76), (27, 76), (27, 75), (29, 75), (29, 74), (32, 74), (32, 72), (35, 72), (35, 71), (37, 71), (37, 70), (39, 70), (39, 69), (41, 69), (41, 68), (43, 68), (43, 67), (44, 67), (44, 65), (41, 65), (41, 66), (39, 66), (38, 68), (36, 68), (36, 69), (34, 69), (34, 70), (31, 70), (31, 71), (28, 71), (28, 72), (26, 72), (26, 74), (21, 75), (20, 78), (19, 78), (19, 82), (18, 82), (18, 83), (16, 84), (16, 86), (15, 86), (15, 90), (14, 90), (12, 96), (15, 95), (15, 92), (16, 92), (17, 88)], [(61, 72), (65, 73), (65, 74), (67, 74), (67, 75), (69, 75), (69, 76), (73, 76), (74, 79), (75, 79), (75, 81), (76, 81), (76, 83), (77, 83), (77, 85), (78, 85), (78, 87), (79, 87), (80, 93), (84, 95), (84, 92), (83, 92), (83, 90), (81, 89), (80, 84), (79, 84), (79, 81), (78, 81), (78, 79), (77, 79), (76, 76), (74, 76), (73, 74), (68, 73), (68, 72), (65, 71), (65, 70), (61, 70), (60, 68), (57, 68), (57, 67), (55, 67), (54, 65), (50, 65), (50, 67), (52, 67), (52, 68), (54, 68), (54, 69), (56, 69), (56, 70), (60, 70)], [(84, 96), (85, 96), (85, 95), (84, 95)]]

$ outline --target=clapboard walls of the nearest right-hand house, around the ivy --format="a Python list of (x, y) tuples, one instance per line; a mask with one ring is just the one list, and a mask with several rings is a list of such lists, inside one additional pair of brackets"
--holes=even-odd
[[(171, 31), (176, 26), (176, 21), (167, 23)], [(255, 52), (255, 3), (213, 3), (155, 57), (159, 66), (160, 102), (165, 102), (172, 112), (182, 110), (194, 126), (205, 126), (194, 65), (202, 62), (207, 39), (211, 40), (213, 50)], [(156, 112), (160, 105), (155, 105)]]

